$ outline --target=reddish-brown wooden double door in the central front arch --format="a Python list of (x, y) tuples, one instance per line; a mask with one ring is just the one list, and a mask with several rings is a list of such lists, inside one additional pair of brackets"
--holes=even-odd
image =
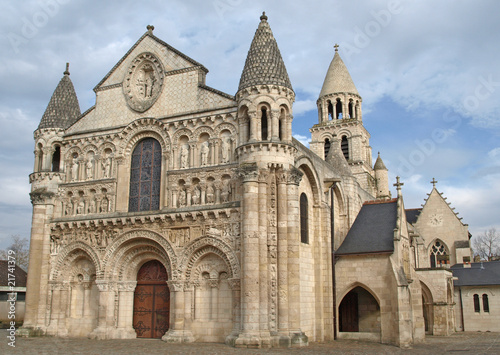
[(166, 281), (167, 271), (157, 260), (148, 261), (137, 272), (133, 327), (138, 338), (161, 338), (168, 330), (170, 291)]

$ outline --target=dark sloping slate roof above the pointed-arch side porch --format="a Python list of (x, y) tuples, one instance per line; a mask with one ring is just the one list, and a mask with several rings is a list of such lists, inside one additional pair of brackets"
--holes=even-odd
[(366, 202), (335, 255), (394, 252), (397, 199)]

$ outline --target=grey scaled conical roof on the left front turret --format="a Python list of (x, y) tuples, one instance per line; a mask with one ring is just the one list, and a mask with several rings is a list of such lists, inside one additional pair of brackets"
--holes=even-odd
[(38, 129), (67, 128), (81, 115), (80, 105), (76, 97), (75, 88), (69, 78), (66, 68), (64, 76), (57, 85), (50, 98), (47, 109), (42, 116)]

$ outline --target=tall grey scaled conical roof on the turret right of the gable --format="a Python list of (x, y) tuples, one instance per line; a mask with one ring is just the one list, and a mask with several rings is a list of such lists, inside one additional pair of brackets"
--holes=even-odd
[(254, 85), (280, 85), (293, 90), (265, 13), (260, 20), (248, 51), (238, 91)]

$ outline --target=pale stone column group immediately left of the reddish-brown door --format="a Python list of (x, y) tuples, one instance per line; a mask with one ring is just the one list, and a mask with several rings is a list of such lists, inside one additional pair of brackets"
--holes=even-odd
[(120, 339), (134, 339), (137, 334), (132, 326), (134, 321), (134, 291), (137, 281), (120, 281), (118, 284), (118, 329)]

